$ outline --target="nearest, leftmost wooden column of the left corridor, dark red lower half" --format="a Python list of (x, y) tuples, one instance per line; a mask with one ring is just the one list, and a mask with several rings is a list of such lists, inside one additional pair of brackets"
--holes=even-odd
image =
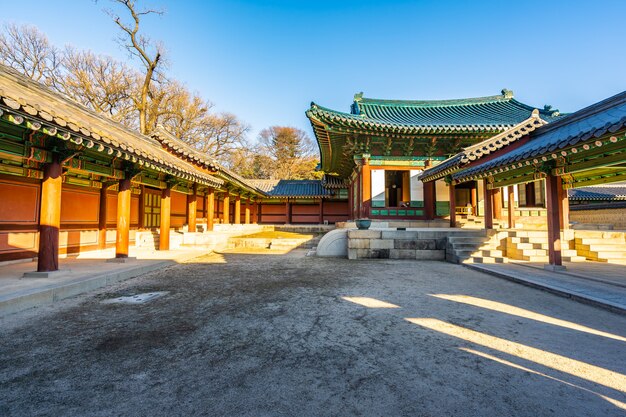
[(59, 270), (59, 229), (61, 228), (61, 184), (63, 169), (57, 156), (44, 167), (39, 207), (39, 253), (37, 272)]

